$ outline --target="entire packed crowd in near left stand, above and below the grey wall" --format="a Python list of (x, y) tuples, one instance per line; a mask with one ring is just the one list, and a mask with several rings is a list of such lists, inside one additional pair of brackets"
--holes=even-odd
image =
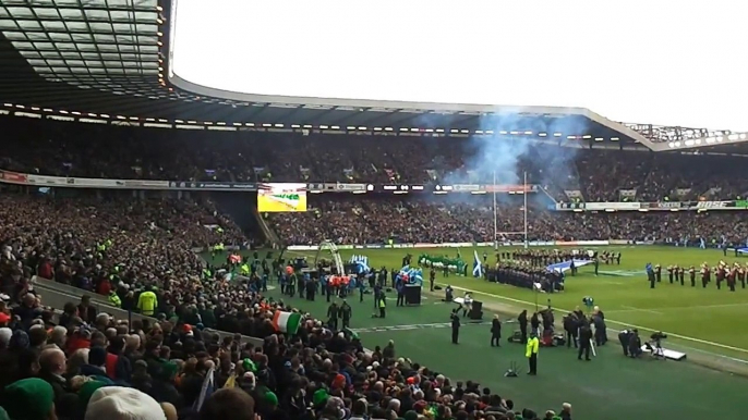
[[(191, 247), (243, 239), (210, 209), (189, 200), (0, 196), (0, 419), (571, 418), (568, 404), (558, 416), (538, 413), (472, 382), (454, 383), (400, 357), (391, 342), (365, 351), (354, 335), (309, 314), (297, 334), (279, 333), (274, 313), (293, 308), (201, 274)], [(88, 296), (53, 311), (29, 284), (33, 274), (99, 293), (124, 288), (123, 307), (132, 292), (155, 292), (155, 320), (113, 319)], [(221, 339), (208, 326), (263, 344), (240, 334)]]

